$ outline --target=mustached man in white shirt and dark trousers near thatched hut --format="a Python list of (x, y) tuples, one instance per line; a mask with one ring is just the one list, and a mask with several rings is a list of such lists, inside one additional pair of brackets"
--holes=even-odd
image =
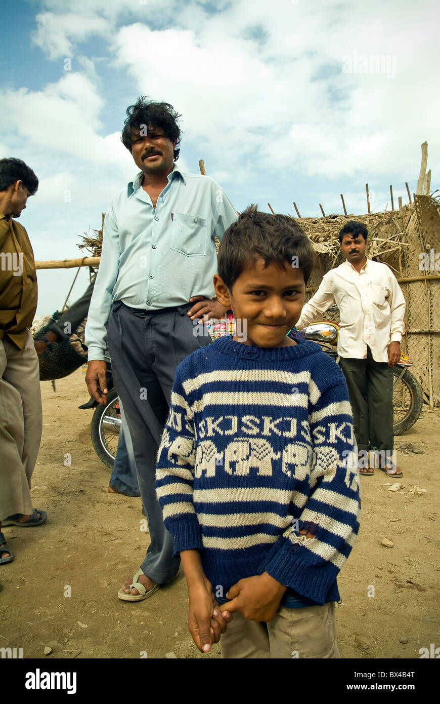
[(337, 351), (347, 379), (359, 453), (359, 471), (370, 476), (368, 453), (380, 451), (381, 469), (402, 477), (394, 462), (393, 370), (405, 330), (405, 299), (386, 264), (366, 258), (368, 231), (350, 220), (339, 232), (346, 261), (325, 274), (302, 309), (297, 328), (321, 317), (333, 303), (341, 315)]

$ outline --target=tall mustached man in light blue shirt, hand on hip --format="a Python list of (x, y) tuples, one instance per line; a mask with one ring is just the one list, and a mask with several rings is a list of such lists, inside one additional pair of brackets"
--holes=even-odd
[(192, 321), (221, 318), (226, 311), (212, 300), (214, 237), (221, 240), (237, 213), (214, 180), (183, 173), (174, 163), (180, 115), (169, 103), (139, 98), (127, 115), (122, 142), (141, 172), (113, 197), (105, 215), (86, 325), (86, 383), (91, 396), (105, 404), (108, 348), (150, 532), (145, 560), (118, 596), (141, 601), (179, 570), (155, 494), (157, 447), (177, 365), (211, 341), (204, 326)]

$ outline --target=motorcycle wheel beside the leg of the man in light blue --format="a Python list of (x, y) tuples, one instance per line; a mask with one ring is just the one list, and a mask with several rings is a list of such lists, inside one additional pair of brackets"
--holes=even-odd
[(95, 408), (90, 424), (93, 448), (101, 462), (110, 469), (115, 463), (120, 428), (119, 396), (116, 389), (112, 389), (108, 394), (107, 405)]

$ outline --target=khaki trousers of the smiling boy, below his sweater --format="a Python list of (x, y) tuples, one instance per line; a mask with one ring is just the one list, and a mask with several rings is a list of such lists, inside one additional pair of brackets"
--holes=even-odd
[[(221, 608), (221, 607), (220, 607)], [(247, 621), (236, 612), (220, 640), (222, 658), (340, 658), (335, 603), (288, 609), (269, 623)]]

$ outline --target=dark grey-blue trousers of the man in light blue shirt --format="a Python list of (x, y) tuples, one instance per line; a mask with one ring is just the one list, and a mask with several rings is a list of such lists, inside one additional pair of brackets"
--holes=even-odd
[(127, 417), (150, 532), (141, 570), (157, 584), (173, 579), (180, 565), (180, 559), (172, 557), (172, 536), (164, 527), (156, 497), (157, 449), (176, 367), (188, 354), (212, 341), (209, 335), (193, 334), (200, 327), (194, 327), (188, 318), (190, 306), (143, 313), (117, 301), (108, 318), (107, 346), (113, 379)]

